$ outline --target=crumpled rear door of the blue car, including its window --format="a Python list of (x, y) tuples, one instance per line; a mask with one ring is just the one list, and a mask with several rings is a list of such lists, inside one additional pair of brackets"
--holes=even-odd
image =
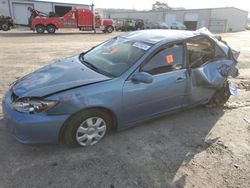
[(223, 86), (226, 76), (221, 72), (233, 61), (210, 38), (198, 36), (186, 42), (190, 69), (188, 102), (206, 103)]

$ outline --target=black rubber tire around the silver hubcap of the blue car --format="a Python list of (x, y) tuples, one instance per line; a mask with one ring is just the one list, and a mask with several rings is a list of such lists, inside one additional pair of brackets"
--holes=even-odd
[[(70, 117), (65, 122), (61, 130), (60, 142), (69, 147), (77, 147), (77, 146), (84, 147), (84, 145), (79, 144), (77, 141), (77, 130), (79, 129), (79, 127), (82, 125), (83, 122), (85, 122), (89, 118), (94, 118), (94, 117), (100, 117), (105, 121), (106, 131), (104, 133), (104, 136), (102, 137), (104, 138), (113, 126), (112, 118), (110, 114), (105, 111), (93, 109), (93, 110), (81, 111)], [(99, 142), (100, 140), (98, 140), (97, 142)]]

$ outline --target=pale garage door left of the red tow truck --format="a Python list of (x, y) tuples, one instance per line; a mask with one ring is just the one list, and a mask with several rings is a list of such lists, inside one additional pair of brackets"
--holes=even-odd
[(28, 25), (30, 17), (30, 12), (28, 11), (28, 7), (34, 7), (34, 5), (26, 3), (13, 3), (12, 7), (16, 23), (20, 25)]

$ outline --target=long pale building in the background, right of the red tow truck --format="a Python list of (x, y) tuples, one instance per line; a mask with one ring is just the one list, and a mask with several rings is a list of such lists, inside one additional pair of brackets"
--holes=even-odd
[(108, 11), (109, 18), (143, 19), (149, 22), (178, 21), (189, 30), (207, 27), (212, 32), (230, 32), (245, 30), (248, 12), (234, 7), (208, 9), (181, 9), (166, 11)]

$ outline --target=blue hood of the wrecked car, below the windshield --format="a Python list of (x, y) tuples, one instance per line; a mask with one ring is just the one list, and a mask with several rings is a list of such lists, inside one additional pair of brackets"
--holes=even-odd
[(78, 56), (47, 65), (18, 80), (12, 87), (18, 97), (43, 97), (111, 78), (83, 65)]

